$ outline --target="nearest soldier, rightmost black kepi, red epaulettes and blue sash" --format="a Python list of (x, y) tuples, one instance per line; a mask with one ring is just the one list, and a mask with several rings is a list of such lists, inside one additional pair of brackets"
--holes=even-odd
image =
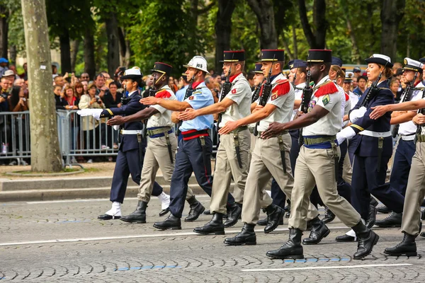
[[(293, 122), (273, 123), (261, 134), (263, 139), (271, 139), (288, 129), (304, 127), (302, 135), (305, 142), (300, 149), (295, 166), (289, 239), (278, 250), (266, 253), (271, 258), (304, 258), (301, 236), (307, 226), (307, 204), (315, 184), (324, 204), (344, 224), (356, 231), (359, 243), (354, 259), (361, 259), (370, 254), (379, 239), (378, 235), (363, 224), (356, 209), (353, 209), (344, 197), (339, 196), (336, 190), (336, 166), (339, 159), (336, 133), (341, 129), (341, 103), (344, 96), (341, 96), (335, 83), (327, 76), (331, 66), (331, 54), (331, 50), (309, 50), (308, 52), (307, 72), (311, 74), (315, 84), (308, 103), (309, 111), (305, 114), (301, 113), (300, 117)], [(329, 233), (329, 230), (327, 231)]]

